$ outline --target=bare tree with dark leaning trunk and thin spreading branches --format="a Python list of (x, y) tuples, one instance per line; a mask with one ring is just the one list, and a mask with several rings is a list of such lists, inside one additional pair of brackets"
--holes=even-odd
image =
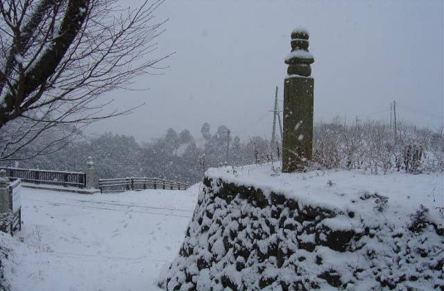
[(166, 69), (157, 64), (173, 53), (156, 57), (155, 40), (167, 20), (153, 22), (163, 1), (0, 1), (0, 161), (52, 152), (79, 128), (137, 109), (106, 112), (100, 97)]

